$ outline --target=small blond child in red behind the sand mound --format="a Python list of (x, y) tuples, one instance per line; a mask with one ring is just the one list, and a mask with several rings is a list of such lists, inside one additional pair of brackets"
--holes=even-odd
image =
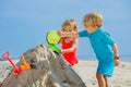
[[(62, 32), (78, 32), (78, 24), (74, 20), (67, 20), (62, 25)], [(61, 38), (61, 53), (64, 60), (73, 67), (79, 63), (76, 58), (78, 40), (75, 37)]]

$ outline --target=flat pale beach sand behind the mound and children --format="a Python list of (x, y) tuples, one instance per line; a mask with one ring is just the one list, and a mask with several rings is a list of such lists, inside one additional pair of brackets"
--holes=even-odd
[[(17, 60), (13, 62), (16, 63)], [(87, 87), (98, 87), (95, 77), (96, 67), (96, 61), (80, 61), (78, 73)], [(12, 65), (8, 61), (0, 61), (0, 84), (8, 76), (10, 70), (12, 70)], [(115, 69), (114, 76), (108, 80), (110, 87), (131, 87), (131, 62), (121, 62)]]

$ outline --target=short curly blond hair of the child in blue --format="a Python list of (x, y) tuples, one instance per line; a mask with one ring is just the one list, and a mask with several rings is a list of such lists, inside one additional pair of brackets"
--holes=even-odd
[(100, 27), (103, 25), (104, 18), (103, 15), (98, 12), (91, 12), (83, 17), (84, 26), (97, 26)]

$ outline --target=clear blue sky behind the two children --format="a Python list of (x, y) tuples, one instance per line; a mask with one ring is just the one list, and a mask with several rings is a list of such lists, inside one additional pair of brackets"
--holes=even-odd
[[(61, 29), (69, 18), (78, 22), (80, 32), (84, 30), (83, 16), (97, 11), (119, 54), (131, 58), (130, 9), (131, 0), (0, 0), (0, 57), (9, 51), (12, 58), (19, 58), (31, 48), (48, 45), (47, 32)], [(87, 38), (79, 38), (78, 55), (95, 55)]]

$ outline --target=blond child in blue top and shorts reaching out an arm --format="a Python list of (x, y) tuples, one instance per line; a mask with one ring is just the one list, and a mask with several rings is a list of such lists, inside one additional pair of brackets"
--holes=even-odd
[(61, 37), (87, 37), (98, 60), (96, 77), (98, 87), (109, 87), (107, 77), (112, 76), (115, 65), (119, 65), (118, 48), (110, 35), (102, 28), (103, 16), (91, 12), (83, 17), (85, 30), (79, 33), (62, 33)]

